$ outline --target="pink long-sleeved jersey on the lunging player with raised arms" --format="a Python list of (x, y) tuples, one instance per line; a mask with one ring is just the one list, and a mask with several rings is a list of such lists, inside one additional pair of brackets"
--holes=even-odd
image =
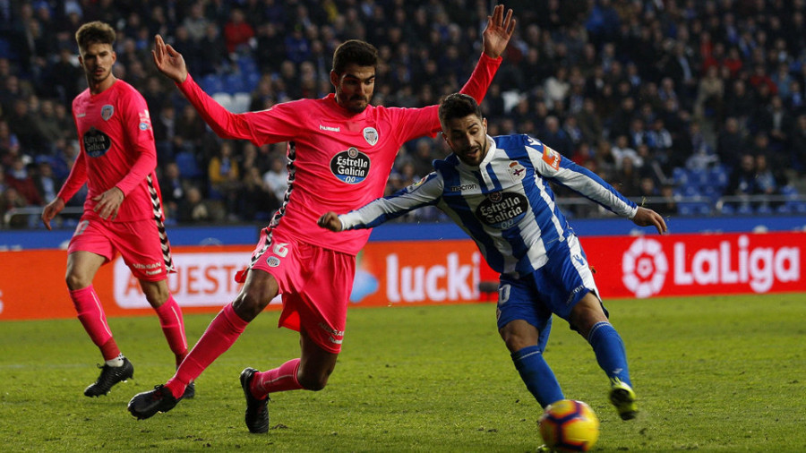
[[(462, 92), (481, 102), (499, 64), (501, 58), (483, 54)], [(291, 164), (286, 201), (270, 227), (352, 255), (366, 244), (370, 231), (333, 233), (317, 226), (316, 220), (327, 211), (347, 212), (381, 197), (403, 143), (440, 130), (438, 106), (369, 106), (355, 114), (340, 107), (331, 93), (233, 114), (204, 93), (190, 75), (178, 85), (220, 137), (246, 139), (256, 146), (288, 141)]]

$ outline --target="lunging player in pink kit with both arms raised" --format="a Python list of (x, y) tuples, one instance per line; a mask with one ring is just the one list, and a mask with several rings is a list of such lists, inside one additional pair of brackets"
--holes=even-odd
[[(501, 62), (515, 21), (498, 5), (484, 30), (484, 54), (462, 92), (484, 98)], [(271, 299), (282, 295), (279, 326), (300, 334), (301, 356), (267, 372), (246, 368), (241, 386), (250, 432), (267, 432), (266, 408), (272, 392), (325, 387), (341, 350), (356, 254), (369, 231), (322, 231), (319, 214), (356, 209), (382, 195), (404, 142), (440, 130), (438, 106), (387, 108), (370, 105), (377, 50), (349, 40), (336, 49), (330, 82), (336, 93), (300, 99), (268, 110), (232, 114), (205, 94), (187, 73), (183, 57), (156, 38), (154, 62), (190, 100), (207, 124), (226, 139), (260, 146), (288, 141), (288, 189), (283, 205), (262, 231), (252, 262), (239, 275), (244, 287), (210, 323), (196, 346), (164, 386), (129, 402), (143, 419), (167, 412), (194, 380), (244, 331)], [(325, 210), (322, 210), (325, 209)]]

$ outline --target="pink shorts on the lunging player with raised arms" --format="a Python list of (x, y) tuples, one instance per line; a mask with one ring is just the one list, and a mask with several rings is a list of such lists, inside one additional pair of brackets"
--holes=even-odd
[(277, 280), (283, 299), (279, 327), (304, 329), (322, 349), (339, 354), (356, 276), (355, 256), (264, 228), (250, 269)]

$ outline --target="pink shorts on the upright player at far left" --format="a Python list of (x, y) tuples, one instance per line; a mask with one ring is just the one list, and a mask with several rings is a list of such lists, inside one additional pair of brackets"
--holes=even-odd
[(67, 252), (92, 252), (106, 258), (106, 262), (120, 253), (139, 280), (160, 281), (167, 278), (167, 272), (175, 272), (165, 226), (153, 218), (109, 222), (85, 213)]

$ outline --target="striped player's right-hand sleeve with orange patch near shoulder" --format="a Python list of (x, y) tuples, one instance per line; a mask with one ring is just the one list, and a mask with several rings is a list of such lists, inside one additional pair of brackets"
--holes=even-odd
[(535, 171), (546, 178), (562, 184), (588, 200), (604, 206), (613, 213), (634, 218), (638, 207), (596, 173), (580, 167), (568, 158), (545, 146), (540, 141), (527, 137), (527, 153)]

